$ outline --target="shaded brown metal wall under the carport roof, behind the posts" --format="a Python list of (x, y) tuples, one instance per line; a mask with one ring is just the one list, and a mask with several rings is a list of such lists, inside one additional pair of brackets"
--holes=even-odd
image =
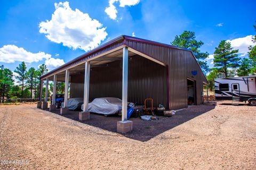
[[(166, 67), (141, 56), (133, 56), (128, 67), (128, 101), (142, 105), (145, 98), (153, 98), (154, 107), (167, 106)], [(83, 97), (83, 76), (71, 78), (74, 82), (70, 86), (71, 97)], [(77, 84), (76, 80), (81, 83)], [(89, 100), (99, 97), (122, 99), (122, 61), (91, 69)]]

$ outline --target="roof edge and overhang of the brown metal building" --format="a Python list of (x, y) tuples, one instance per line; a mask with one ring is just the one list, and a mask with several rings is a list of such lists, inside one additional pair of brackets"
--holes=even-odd
[[(97, 65), (97, 64), (100, 65), (100, 64), (106, 64), (107, 62), (122, 60), (122, 48), (125, 46), (128, 47), (129, 53), (131, 53), (130, 55), (138, 54), (142, 57), (147, 58), (148, 60), (154, 61), (163, 66), (166, 66), (166, 63), (158, 61), (154, 57), (148, 56), (146, 54), (139, 52), (138, 50), (133, 49), (132, 47), (129, 47), (129, 43), (126, 43), (126, 40), (127, 41), (137, 41), (140, 43), (161, 46), (161, 47), (187, 50), (187, 51), (191, 52), (191, 50), (188, 50), (185, 48), (180, 48), (180, 47), (175, 47), (175, 46), (171, 46), (171, 45), (167, 45), (167, 44), (163, 44), (163, 43), (158, 43), (156, 41), (150, 41), (150, 40), (136, 38), (136, 37), (130, 37), (130, 36), (119, 36), (119, 37), (117, 37), (113, 40), (110, 40), (107, 43), (105, 43), (97, 48), (94, 48), (90, 52), (87, 52), (87, 53), (75, 58), (74, 60), (71, 60), (70, 62), (67, 62), (66, 64), (63, 64), (60, 67), (42, 75), (40, 77), (40, 79), (43, 80), (46, 78), (53, 77), (54, 74), (59, 74), (61, 72), (66, 71), (67, 69), (75, 70), (75, 69), (78, 69), (79, 67), (84, 69), (83, 63), (88, 62), (88, 61), (91, 61), (92, 65)], [(194, 54), (193, 54), (193, 56), (194, 56)], [(108, 58), (109, 58), (109, 60), (108, 60)], [(198, 66), (199, 66), (199, 64), (198, 64)], [(205, 79), (206, 79), (206, 77), (205, 77)], [(206, 79), (206, 81), (207, 81), (207, 79)]]

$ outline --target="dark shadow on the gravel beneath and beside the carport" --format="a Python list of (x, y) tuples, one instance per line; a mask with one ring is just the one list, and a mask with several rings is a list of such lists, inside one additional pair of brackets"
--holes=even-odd
[[(131, 117), (129, 120), (133, 121), (133, 131), (123, 134), (127, 138), (131, 138), (139, 141), (148, 141), (156, 135), (161, 134), (167, 130), (174, 128), (182, 123), (185, 123), (199, 115), (214, 109), (212, 105), (200, 105), (193, 106), (181, 111), (176, 112), (172, 117), (158, 116), (159, 120), (156, 121), (143, 121), (140, 118)], [(54, 111), (52, 113), (59, 114), (60, 111)], [(69, 114), (64, 115), (72, 120), (85, 123), (97, 128), (116, 132), (116, 122), (121, 121), (121, 116), (109, 116), (105, 117), (100, 114), (91, 114), (91, 119), (87, 121), (78, 120), (78, 111), (69, 111)]]

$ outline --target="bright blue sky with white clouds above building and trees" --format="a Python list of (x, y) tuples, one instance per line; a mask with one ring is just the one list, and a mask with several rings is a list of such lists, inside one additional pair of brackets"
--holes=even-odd
[(204, 42), (202, 52), (213, 54), (221, 40), (230, 40), (246, 57), (255, 6), (256, 1), (223, 0), (1, 0), (0, 64), (14, 70), (25, 61), (54, 69), (119, 35), (170, 44), (184, 30)]

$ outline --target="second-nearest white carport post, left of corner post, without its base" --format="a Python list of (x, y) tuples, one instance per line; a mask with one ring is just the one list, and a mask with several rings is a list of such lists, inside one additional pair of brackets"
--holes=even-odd
[(90, 62), (85, 62), (84, 71), (84, 107), (83, 111), (87, 112), (89, 104), (89, 86), (90, 86)]

